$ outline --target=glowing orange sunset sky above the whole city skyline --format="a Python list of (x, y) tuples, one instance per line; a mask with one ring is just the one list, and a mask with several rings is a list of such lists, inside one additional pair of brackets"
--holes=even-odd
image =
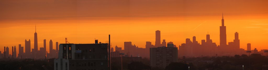
[(227, 42), (239, 32), (240, 48), (251, 43), (251, 49), (261, 50), (268, 48), (267, 8), (267, 0), (2, 0), (0, 51), (4, 46), (18, 51), (25, 39), (31, 39), (33, 48), (35, 24), (38, 49), (46, 39), (48, 52), (50, 39), (55, 49), (55, 42), (65, 43), (65, 38), (70, 43), (94, 43), (94, 38), (105, 43), (109, 34), (112, 47), (124, 48), (125, 41), (132, 41), (145, 48), (146, 41), (155, 43), (156, 30), (177, 46), (192, 36), (200, 43), (208, 33), (219, 45), (222, 12)]

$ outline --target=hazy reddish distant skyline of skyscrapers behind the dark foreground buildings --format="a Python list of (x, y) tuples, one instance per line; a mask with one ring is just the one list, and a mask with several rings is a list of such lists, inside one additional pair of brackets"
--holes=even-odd
[[(162, 40), (162, 44), (161, 44), (161, 34), (160, 34), (160, 31), (157, 30), (155, 31), (155, 45), (152, 45), (150, 41), (147, 41), (146, 42), (146, 46), (145, 48), (139, 48), (138, 46), (136, 46), (135, 44), (132, 45), (131, 41), (129, 42), (124, 42), (124, 50), (122, 50), (122, 48), (119, 49), (118, 46), (115, 46), (115, 50), (116, 51), (119, 51), (119, 52), (123, 52), (123, 53), (126, 53), (128, 56), (135, 56), (135, 57), (139, 57), (139, 56), (142, 56), (142, 57), (149, 57), (149, 54), (148, 52), (150, 51), (149, 48), (154, 48), (154, 47), (160, 47), (160, 46), (167, 46), (167, 42), (165, 39)], [(194, 53), (197, 53), (197, 52), (191, 52), (191, 51), (196, 51), (195, 49), (198, 49), (198, 50), (208, 50), (208, 49), (211, 49), (211, 52), (214, 52), (214, 54), (211, 54), (211, 52), (206, 52), (206, 53), (210, 53), (210, 54), (204, 54), (204, 56), (206, 55), (234, 55), (234, 54), (244, 54), (245, 52), (245, 49), (242, 49), (240, 48), (240, 43), (239, 43), (239, 39), (238, 39), (238, 32), (235, 32), (235, 39), (233, 42), (229, 42), (228, 45), (226, 44), (226, 26), (224, 26), (224, 19), (223, 19), (223, 15), (222, 15), (222, 26), (220, 26), (220, 44), (219, 45), (216, 45), (216, 43), (212, 43), (212, 40), (210, 39), (210, 35), (208, 34), (207, 35), (207, 39), (206, 39), (206, 42), (205, 40), (202, 40), (202, 43), (199, 44), (197, 41), (196, 41), (196, 37), (193, 36), (193, 40), (191, 41), (190, 39), (186, 39), (186, 42), (185, 44), (181, 44), (179, 45), (178, 47), (178, 56), (188, 56), (188, 55), (191, 55), (192, 57), (196, 56), (203, 56), (202, 54), (195, 54)], [(192, 43), (192, 44), (190, 44)], [(202, 47), (196, 47), (196, 46), (199, 46), (199, 45), (203, 45), (204, 43), (211, 43), (211, 44), (207, 44), (205, 46)], [(53, 49), (53, 42), (52, 40), (50, 40), (50, 43), (49, 43), (50, 47), (49, 47), (49, 52), (51, 52), (51, 57), (54, 58), (57, 56), (57, 53), (58, 53), (58, 42), (56, 42), (56, 49)], [(168, 44), (173, 44), (173, 42), (168, 42)], [(187, 45), (189, 44), (189, 45)], [(196, 45), (193, 45), (193, 44), (196, 44)], [(247, 44), (249, 48), (247, 48), (247, 50), (251, 50), (251, 46), (250, 46), (250, 43)], [(194, 47), (192, 47), (194, 46)], [(8, 47), (8, 46), (6, 46)], [(176, 47), (176, 45), (174, 45), (174, 47)], [(192, 49), (191, 49), (192, 47)], [(196, 47), (196, 48), (195, 48)], [(208, 47), (211, 47), (211, 48), (208, 48)], [(190, 49), (189, 49), (190, 48)], [(205, 49), (207, 48), (207, 49)], [(213, 49), (214, 48), (214, 49)], [(8, 49), (8, 48), (5, 48), (5, 49)], [(14, 47), (14, 49), (16, 50), (16, 46)], [(37, 57), (37, 58), (44, 58), (44, 56), (47, 56), (47, 55), (50, 55), (50, 54), (47, 54), (47, 51), (46, 50), (46, 39), (44, 39), (44, 46), (43, 47), (40, 47), (40, 49), (38, 50), (38, 44), (37, 44), (37, 33), (35, 32), (34, 33), (34, 47), (33, 49), (31, 49), (31, 42), (30, 40), (27, 41), (25, 40), (25, 53), (23, 53), (23, 50), (24, 48), (19, 44), (19, 53), (18, 53), (18, 56), (17, 57), (20, 57), (22, 54), (27, 54), (25, 55), (26, 57), (27, 56), (31, 56), (33, 55), (34, 57)], [(113, 49), (113, 48), (112, 48)], [(134, 50), (135, 49), (135, 50)], [(230, 50), (231, 49), (231, 50)], [(21, 51), (22, 50), (22, 51)], [(31, 52), (32, 50), (32, 52)], [(230, 50), (230, 51), (228, 51)], [(264, 49), (263, 49), (264, 50)], [(263, 51), (261, 50), (261, 51)], [(9, 51), (9, 50), (7, 50)], [(143, 51), (143, 52), (136, 52), (136, 51)], [(187, 51), (187, 52), (186, 52)], [(236, 52), (235, 52), (236, 51)], [(239, 52), (237, 52), (239, 51)], [(252, 50), (252, 51), (257, 51), (256, 49)], [(10, 51), (11, 52), (11, 51)], [(8, 52), (6, 54), (6, 57), (9, 56), (9, 54), (12, 54), (13, 53), (10, 53)], [(16, 51), (14, 51), (16, 52)], [(145, 54), (143, 54), (145, 53)], [(187, 53), (187, 54), (185, 54)], [(16, 53), (14, 53), (15, 55)], [(42, 54), (42, 55), (40, 55)], [(16, 54), (17, 55), (17, 54)], [(15, 55), (15, 56), (16, 56)]]

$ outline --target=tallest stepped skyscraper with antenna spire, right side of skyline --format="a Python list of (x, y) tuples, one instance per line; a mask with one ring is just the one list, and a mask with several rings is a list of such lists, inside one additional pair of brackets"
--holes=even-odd
[(227, 50), (226, 48), (226, 26), (224, 26), (224, 19), (223, 19), (223, 14), (222, 14), (222, 19), (221, 19), (221, 26), (219, 27), (220, 33), (219, 33), (219, 45), (221, 47), (221, 50), (225, 51)]

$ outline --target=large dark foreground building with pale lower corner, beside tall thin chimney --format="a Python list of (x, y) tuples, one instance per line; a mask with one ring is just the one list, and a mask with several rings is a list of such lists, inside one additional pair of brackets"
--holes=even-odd
[(108, 43), (59, 44), (59, 58), (54, 59), (54, 70), (108, 70), (108, 50)]

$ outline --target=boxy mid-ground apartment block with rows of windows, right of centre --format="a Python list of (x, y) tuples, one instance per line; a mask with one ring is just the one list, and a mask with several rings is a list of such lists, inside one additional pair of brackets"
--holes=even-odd
[(165, 68), (172, 62), (178, 62), (177, 47), (150, 48), (150, 61), (152, 67)]

